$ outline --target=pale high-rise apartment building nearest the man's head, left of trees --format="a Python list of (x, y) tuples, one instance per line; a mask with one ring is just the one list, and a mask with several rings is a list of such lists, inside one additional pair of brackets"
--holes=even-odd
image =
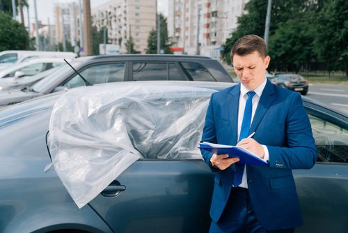
[[(220, 59), (248, 0), (168, 0), (168, 36), (187, 54)], [(197, 37), (198, 35), (198, 37)], [(197, 46), (199, 45), (199, 46)]]

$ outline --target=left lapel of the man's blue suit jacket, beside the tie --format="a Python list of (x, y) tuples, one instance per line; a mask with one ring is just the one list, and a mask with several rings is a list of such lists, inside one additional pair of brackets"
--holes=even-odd
[(230, 91), (228, 96), (228, 115), (230, 119), (230, 126), (232, 132), (232, 145), (237, 144), (237, 132), (238, 132), (238, 106), (239, 106), (239, 94), (240, 84), (237, 84)]

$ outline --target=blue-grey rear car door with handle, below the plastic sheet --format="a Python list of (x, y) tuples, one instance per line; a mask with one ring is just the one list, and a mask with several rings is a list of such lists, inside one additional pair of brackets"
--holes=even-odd
[(202, 159), (143, 159), (90, 206), (115, 232), (207, 232), (213, 182)]

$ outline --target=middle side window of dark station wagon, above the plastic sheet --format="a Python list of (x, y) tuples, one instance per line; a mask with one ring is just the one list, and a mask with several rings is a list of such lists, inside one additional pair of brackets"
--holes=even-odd
[(133, 63), (133, 80), (168, 80), (168, 63)]

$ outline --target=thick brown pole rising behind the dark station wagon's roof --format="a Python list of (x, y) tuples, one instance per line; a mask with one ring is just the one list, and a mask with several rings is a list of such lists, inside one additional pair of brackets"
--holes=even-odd
[(93, 54), (93, 38), (90, 21), (90, 0), (84, 0), (84, 55), (86, 56)]

